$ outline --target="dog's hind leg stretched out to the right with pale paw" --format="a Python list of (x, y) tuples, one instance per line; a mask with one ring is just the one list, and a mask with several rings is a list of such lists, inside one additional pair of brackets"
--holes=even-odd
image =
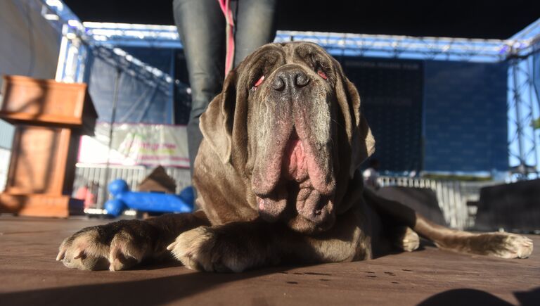
[(364, 197), (380, 215), (390, 217), (394, 224), (410, 227), (439, 248), (503, 258), (526, 258), (532, 253), (532, 240), (525, 236), (499, 232), (477, 234), (449, 229), (430, 222), (404, 204), (378, 196), (371, 189), (364, 189)]

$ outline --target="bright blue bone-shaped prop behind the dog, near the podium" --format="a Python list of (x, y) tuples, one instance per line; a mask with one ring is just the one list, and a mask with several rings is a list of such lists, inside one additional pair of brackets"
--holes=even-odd
[(146, 212), (192, 212), (193, 187), (182, 190), (180, 196), (167, 193), (129, 191), (126, 181), (115, 179), (108, 185), (113, 200), (105, 203), (108, 215), (118, 217), (126, 208)]

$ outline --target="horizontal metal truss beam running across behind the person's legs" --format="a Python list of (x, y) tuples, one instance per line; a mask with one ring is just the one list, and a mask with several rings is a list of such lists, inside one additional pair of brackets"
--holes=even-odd
[[(181, 49), (174, 26), (83, 23), (96, 44)], [(506, 58), (511, 40), (409, 37), (397, 35), (278, 31), (275, 42), (315, 42), (333, 55), (384, 56), (428, 60), (496, 62)]]

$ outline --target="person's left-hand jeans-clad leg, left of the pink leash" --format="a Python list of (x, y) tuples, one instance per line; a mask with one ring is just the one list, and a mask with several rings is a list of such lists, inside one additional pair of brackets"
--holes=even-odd
[(203, 139), (199, 117), (221, 91), (223, 84), (225, 18), (216, 0), (174, 0), (173, 9), (191, 86), (191, 113), (187, 129), (193, 176), (193, 162)]

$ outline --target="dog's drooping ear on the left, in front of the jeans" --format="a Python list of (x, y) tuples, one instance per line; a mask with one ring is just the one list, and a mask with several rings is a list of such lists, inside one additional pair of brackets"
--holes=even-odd
[(224, 164), (231, 161), (232, 125), (236, 103), (236, 72), (226, 77), (223, 90), (200, 116), (200, 132)]

